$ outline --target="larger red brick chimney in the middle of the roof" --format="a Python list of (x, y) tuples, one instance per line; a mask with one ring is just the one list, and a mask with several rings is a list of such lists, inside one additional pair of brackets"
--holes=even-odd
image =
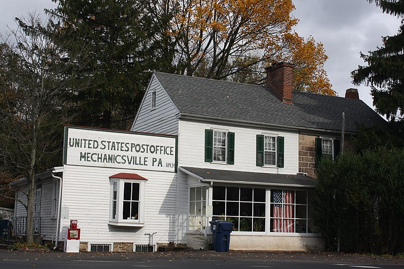
[(275, 63), (267, 67), (267, 86), (271, 88), (284, 103), (293, 99), (293, 64)]

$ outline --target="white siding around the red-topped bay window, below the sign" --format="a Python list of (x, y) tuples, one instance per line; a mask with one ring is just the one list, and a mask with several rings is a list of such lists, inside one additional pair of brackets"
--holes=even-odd
[[(108, 224), (109, 177), (122, 172), (136, 173), (147, 179), (144, 227), (117, 227)], [(69, 226), (70, 220), (77, 220), (77, 227), (81, 229), (81, 241), (147, 244), (148, 237), (144, 233), (153, 232), (157, 232), (154, 236), (155, 244), (176, 241), (176, 175), (168, 172), (66, 166), (62, 205), (69, 207), (69, 219), (62, 221), (63, 230)]]

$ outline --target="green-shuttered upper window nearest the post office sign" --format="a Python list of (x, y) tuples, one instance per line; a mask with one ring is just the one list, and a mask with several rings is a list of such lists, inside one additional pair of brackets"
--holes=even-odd
[(205, 162), (234, 165), (234, 133), (206, 129)]

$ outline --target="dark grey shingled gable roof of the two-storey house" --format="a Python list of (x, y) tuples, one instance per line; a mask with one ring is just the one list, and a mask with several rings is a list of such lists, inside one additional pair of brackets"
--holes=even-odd
[(384, 121), (365, 102), (307, 92), (293, 92), (286, 104), (265, 86), (155, 72), (181, 114), (207, 116), (328, 131), (356, 132), (357, 123), (370, 127)]

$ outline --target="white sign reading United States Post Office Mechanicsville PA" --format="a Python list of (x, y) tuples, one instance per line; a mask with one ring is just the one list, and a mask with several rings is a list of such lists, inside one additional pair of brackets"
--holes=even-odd
[(64, 164), (175, 172), (176, 139), (66, 126)]

